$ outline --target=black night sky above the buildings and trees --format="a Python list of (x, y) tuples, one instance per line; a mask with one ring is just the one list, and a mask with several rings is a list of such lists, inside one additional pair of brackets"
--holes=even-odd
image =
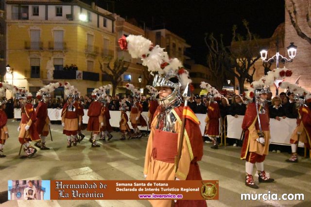
[[(91, 0), (83, 0), (91, 2)], [(110, 0), (113, 1), (113, 0)], [(191, 45), (187, 51), (199, 64), (206, 64), (205, 33), (224, 35), (230, 45), (232, 26), (245, 34), (242, 19), (249, 22), (251, 32), (260, 38), (271, 37), (276, 27), (284, 22), (284, 0), (97, 0), (96, 4), (123, 18), (135, 18), (146, 27), (168, 29), (183, 37)]]

